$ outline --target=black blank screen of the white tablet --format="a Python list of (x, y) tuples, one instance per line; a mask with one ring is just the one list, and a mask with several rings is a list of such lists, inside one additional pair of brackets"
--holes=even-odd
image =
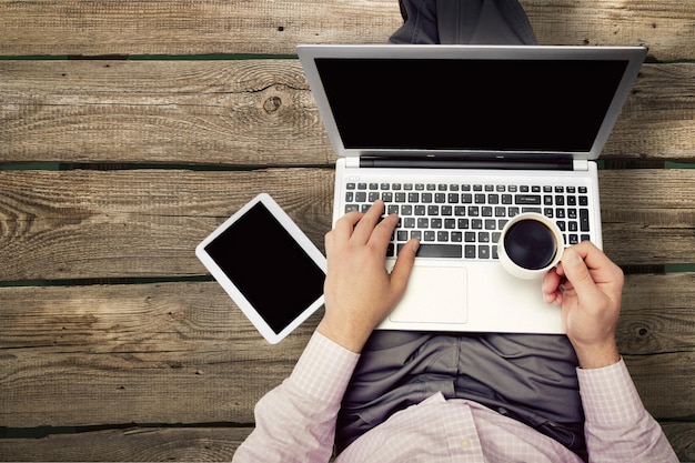
[(323, 270), (261, 202), (205, 251), (275, 333), (323, 294)]

